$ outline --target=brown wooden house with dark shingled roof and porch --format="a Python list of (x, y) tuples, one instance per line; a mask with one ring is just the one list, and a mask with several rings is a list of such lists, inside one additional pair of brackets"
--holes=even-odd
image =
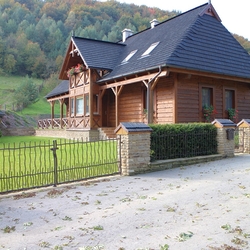
[(229, 109), (250, 117), (250, 56), (210, 2), (137, 34), (124, 29), (117, 43), (72, 36), (59, 78), (46, 96), (50, 127), (204, 122), (227, 119)]

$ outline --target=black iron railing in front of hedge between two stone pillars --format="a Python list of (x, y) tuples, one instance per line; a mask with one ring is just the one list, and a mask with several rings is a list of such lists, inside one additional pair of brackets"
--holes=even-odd
[(151, 161), (217, 154), (217, 131), (155, 133), (151, 136)]

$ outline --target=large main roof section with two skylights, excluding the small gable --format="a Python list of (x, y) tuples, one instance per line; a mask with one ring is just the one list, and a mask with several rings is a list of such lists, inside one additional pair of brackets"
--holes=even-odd
[[(159, 66), (250, 78), (250, 56), (218, 19), (200, 15), (207, 7), (204, 4), (129, 37), (113, 71), (99, 82)], [(155, 42), (159, 45), (142, 58)], [(122, 64), (133, 50), (136, 54)]]

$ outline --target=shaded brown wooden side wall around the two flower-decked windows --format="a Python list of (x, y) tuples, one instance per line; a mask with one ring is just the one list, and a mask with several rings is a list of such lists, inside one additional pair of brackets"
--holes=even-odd
[(177, 122), (203, 122), (201, 86), (214, 89), (214, 107), (217, 111), (215, 118), (227, 119), (225, 110), (225, 89), (235, 90), (235, 108), (239, 110), (239, 120), (250, 117), (250, 86), (246, 83), (214, 79), (202, 76), (180, 74), (177, 87)]

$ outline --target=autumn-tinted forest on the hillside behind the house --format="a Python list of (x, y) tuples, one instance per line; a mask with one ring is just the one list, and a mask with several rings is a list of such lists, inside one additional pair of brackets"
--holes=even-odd
[[(136, 33), (177, 14), (115, 0), (0, 0), (0, 75), (47, 79), (60, 69), (72, 34), (117, 42), (124, 28)], [(234, 36), (250, 52), (250, 42)]]

